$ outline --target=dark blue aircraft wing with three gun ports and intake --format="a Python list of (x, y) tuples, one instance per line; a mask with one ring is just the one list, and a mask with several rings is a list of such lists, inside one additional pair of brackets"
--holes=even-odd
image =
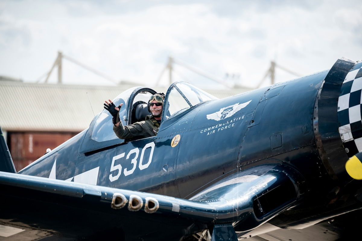
[[(211, 240), (237, 240), (232, 224), (250, 230), (296, 203), (294, 175), (281, 165), (257, 166), (186, 200), (0, 172), (0, 224), (19, 231), (11, 240), (181, 240), (206, 229), (213, 229)], [(268, 204), (268, 194), (282, 192), (288, 195)]]

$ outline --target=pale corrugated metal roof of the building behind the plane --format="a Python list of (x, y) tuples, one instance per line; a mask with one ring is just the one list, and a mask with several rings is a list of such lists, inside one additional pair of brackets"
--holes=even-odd
[[(80, 132), (88, 128), (94, 118), (89, 100), (97, 114), (103, 110), (105, 100), (113, 99), (131, 87), (129, 84), (84, 86), (0, 81), (0, 126), (7, 131)], [(167, 89), (155, 90), (165, 92)], [(248, 90), (207, 92), (221, 99), (245, 91)]]

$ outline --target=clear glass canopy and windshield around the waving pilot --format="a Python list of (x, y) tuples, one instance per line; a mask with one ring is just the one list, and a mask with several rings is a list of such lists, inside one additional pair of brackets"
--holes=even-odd
[[(147, 103), (151, 95), (155, 93), (156, 91), (150, 88), (133, 87), (115, 97), (112, 100), (115, 106), (123, 104), (119, 112), (123, 125), (142, 121), (146, 118), (146, 115), (151, 115), (148, 112)], [(173, 83), (166, 92), (160, 130), (163, 122), (172, 121), (175, 116), (201, 103), (216, 99), (215, 96), (187, 82)], [(85, 153), (125, 142), (113, 132), (111, 119), (112, 116), (105, 109), (94, 117), (80, 145), (80, 152)]]

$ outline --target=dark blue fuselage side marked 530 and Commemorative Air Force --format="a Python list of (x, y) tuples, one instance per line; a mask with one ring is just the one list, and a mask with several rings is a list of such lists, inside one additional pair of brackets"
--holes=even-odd
[[(50, 178), (55, 173), (56, 179), (181, 198), (265, 163), (285, 163), (315, 182), (316, 176), (328, 176), (315, 161), (313, 130), (315, 101), (327, 73), (194, 105), (164, 118), (155, 137), (83, 153), (81, 142), (89, 138), (84, 131), (20, 173)], [(235, 111), (243, 103), (248, 104)]]

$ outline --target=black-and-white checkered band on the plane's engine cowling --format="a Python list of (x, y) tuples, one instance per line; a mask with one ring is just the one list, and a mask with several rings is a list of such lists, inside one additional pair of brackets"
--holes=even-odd
[(338, 131), (349, 157), (362, 152), (362, 62), (347, 74), (338, 98)]

